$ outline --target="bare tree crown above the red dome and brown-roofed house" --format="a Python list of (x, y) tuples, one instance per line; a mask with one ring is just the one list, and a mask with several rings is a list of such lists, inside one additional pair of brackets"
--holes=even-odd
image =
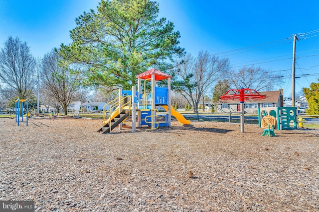
[(238, 71), (227, 71), (226, 75), (232, 89), (244, 87), (257, 91), (270, 91), (275, 84), (282, 82), (275, 74), (260, 67), (243, 67)]

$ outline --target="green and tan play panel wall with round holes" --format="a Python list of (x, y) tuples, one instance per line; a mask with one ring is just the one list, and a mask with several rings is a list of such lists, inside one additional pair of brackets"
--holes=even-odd
[(277, 130), (296, 130), (298, 128), (297, 107), (267, 107), (258, 108), (258, 123), (262, 127), (263, 119), (272, 116), (276, 120), (274, 126)]

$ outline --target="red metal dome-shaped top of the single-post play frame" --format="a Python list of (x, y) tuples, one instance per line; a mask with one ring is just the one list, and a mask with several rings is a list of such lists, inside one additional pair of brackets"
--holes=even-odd
[(261, 95), (256, 90), (249, 88), (230, 89), (220, 97), (220, 99), (222, 100), (239, 100), (240, 103), (244, 103), (245, 99), (265, 98), (266, 95)]

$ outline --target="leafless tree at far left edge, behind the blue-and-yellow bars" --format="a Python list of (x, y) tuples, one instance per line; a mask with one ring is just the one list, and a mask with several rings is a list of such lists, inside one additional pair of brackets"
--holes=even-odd
[(20, 99), (26, 99), (36, 85), (35, 72), (36, 60), (27, 43), (10, 36), (0, 51), (0, 80)]

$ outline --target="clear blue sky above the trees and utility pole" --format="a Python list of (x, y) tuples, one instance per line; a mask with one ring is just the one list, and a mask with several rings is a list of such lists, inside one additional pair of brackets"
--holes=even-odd
[[(8, 36), (26, 41), (35, 57), (71, 42), (75, 18), (99, 0), (0, 0), (0, 48)], [(297, 33), (296, 92), (318, 82), (319, 1), (158, 0), (160, 17), (180, 32), (180, 46), (227, 57), (234, 69), (261, 67), (283, 76), (284, 95), (292, 92), (292, 39)], [(318, 31), (316, 31), (318, 30)], [(307, 38), (307, 39), (305, 39)], [(261, 45), (269, 43), (267, 45)], [(247, 48), (255, 46), (254, 48)], [(233, 51), (242, 49), (240, 51)], [(224, 53), (223, 53), (224, 52)], [(226, 52), (226, 53), (225, 53)], [(220, 54), (222, 53), (222, 54)], [(310, 74), (310, 75), (302, 75)], [(307, 77), (305, 77), (307, 76)]]

